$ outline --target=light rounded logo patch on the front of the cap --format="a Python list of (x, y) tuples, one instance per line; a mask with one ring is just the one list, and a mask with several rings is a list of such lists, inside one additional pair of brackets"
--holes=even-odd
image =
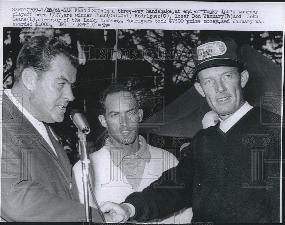
[(205, 60), (213, 56), (221, 56), (227, 51), (227, 46), (224, 42), (213, 41), (202, 44), (197, 48), (197, 60)]

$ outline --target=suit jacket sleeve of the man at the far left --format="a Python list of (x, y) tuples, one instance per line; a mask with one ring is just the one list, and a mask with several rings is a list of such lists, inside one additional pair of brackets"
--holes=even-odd
[[(84, 204), (50, 193), (45, 187), (37, 187), (27, 178), (29, 176), (21, 174), (23, 170), (30, 174), (32, 168), (12, 160), (17, 158), (21, 158), (19, 152), (2, 138), (1, 218), (6, 221), (49, 222), (80, 222), (85, 219)], [(94, 222), (102, 222), (97, 209), (92, 208), (91, 214)]]

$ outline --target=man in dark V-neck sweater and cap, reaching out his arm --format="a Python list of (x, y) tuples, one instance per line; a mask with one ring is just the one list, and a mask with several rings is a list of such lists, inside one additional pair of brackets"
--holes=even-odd
[(200, 130), (166, 171), (174, 180), (162, 176), (122, 204), (101, 203), (101, 210), (118, 222), (160, 219), (185, 206), (192, 206), (192, 222), (280, 222), (280, 116), (245, 101), (249, 73), (231, 38), (208, 39), (195, 53), (195, 87), (220, 122)]

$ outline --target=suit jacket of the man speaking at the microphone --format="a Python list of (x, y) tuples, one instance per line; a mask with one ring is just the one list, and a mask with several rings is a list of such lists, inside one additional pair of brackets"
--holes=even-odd
[[(2, 96), (1, 218), (84, 220), (85, 206), (79, 203), (66, 153), (58, 158), (23, 113)], [(93, 222), (102, 222), (97, 209), (92, 208), (91, 215)]]

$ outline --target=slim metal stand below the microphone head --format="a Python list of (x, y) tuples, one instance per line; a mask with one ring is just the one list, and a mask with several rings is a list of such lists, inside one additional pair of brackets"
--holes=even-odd
[(88, 175), (89, 175), (89, 151), (87, 149), (86, 134), (84, 134), (80, 129), (78, 129), (78, 144), (79, 144), (79, 154), (82, 165), (82, 182), (84, 189), (84, 203), (85, 203), (85, 220), (91, 221), (91, 210), (89, 206), (89, 190), (88, 190)]

